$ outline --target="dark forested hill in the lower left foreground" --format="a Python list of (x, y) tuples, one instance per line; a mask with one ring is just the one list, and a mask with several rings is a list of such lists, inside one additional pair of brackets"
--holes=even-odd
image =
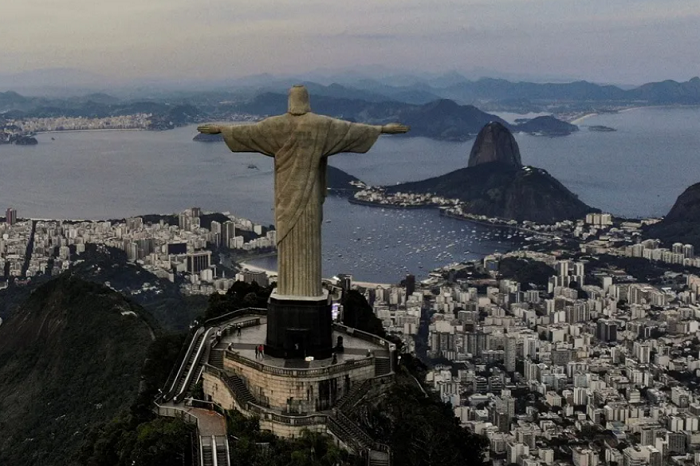
[(0, 326), (0, 464), (67, 465), (135, 400), (154, 337), (144, 310), (61, 275)]

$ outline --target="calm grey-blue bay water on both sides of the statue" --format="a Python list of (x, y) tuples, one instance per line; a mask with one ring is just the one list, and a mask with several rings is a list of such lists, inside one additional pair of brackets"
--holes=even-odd
[[(618, 131), (582, 127), (564, 138), (517, 135), (523, 162), (547, 169), (585, 202), (632, 217), (663, 215), (688, 185), (700, 181), (700, 109), (634, 110), (590, 118), (582, 126), (594, 124)], [(2, 145), (0, 210), (14, 206), (20, 216), (99, 219), (201, 206), (272, 223), (271, 159), (195, 143), (194, 134), (194, 126), (55, 133), (40, 135), (34, 147)], [(336, 155), (331, 165), (371, 184), (398, 183), (465, 166), (471, 145), (384, 136), (368, 154)], [(430, 210), (382, 210), (328, 198), (325, 218), (326, 275), (394, 281), (406, 272), (424, 275), (453, 260), (510, 247), (494, 231)]]

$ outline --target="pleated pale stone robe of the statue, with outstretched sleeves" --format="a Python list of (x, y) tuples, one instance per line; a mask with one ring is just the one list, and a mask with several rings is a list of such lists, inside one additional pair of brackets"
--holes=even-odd
[(381, 126), (337, 120), (314, 113), (267, 118), (222, 129), (232, 152), (275, 158), (277, 294), (317, 297), (321, 289), (321, 221), (326, 196), (327, 157), (365, 153)]

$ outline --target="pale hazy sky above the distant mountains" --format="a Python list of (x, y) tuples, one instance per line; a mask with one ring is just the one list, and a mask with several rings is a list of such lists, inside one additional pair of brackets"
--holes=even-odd
[(0, 74), (383, 64), (618, 83), (700, 75), (700, 0), (5, 0), (0, 31)]

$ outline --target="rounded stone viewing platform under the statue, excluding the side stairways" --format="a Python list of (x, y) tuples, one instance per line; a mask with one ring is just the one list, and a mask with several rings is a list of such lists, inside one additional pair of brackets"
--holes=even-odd
[[(393, 374), (392, 343), (340, 324), (334, 324), (336, 346), (330, 358), (256, 354), (256, 347), (264, 347), (266, 325), (265, 316), (240, 316), (218, 327), (202, 374), (208, 401), (224, 409), (263, 414), (261, 424), (268, 419), (264, 414), (271, 415), (269, 420), (327, 415), (354, 387)], [(290, 429), (280, 432), (274, 425), (269, 429), (278, 435), (297, 434)]]

